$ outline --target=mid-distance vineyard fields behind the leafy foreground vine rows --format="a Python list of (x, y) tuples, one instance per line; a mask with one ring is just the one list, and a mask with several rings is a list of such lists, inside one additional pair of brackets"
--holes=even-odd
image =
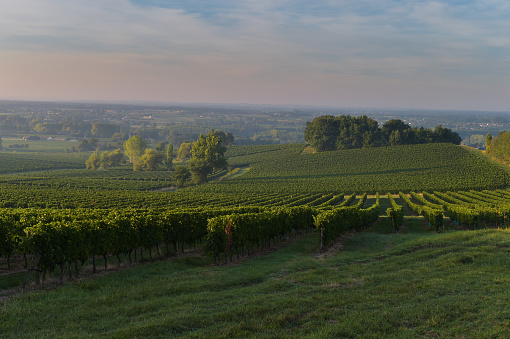
[[(302, 144), (232, 147), (226, 154), (229, 165), (249, 168), (244, 174), (162, 194), (145, 191), (171, 187), (171, 171), (133, 172), (130, 165), (106, 171), (76, 169), (0, 175), (0, 206), (159, 208), (205, 204), (214, 207), (216, 204), (211, 201), (238, 205), (259, 195), (482, 190), (505, 188), (510, 182), (508, 171), (487, 161), (483, 155), (449, 144), (327, 154), (303, 153), (304, 148)], [(27, 159), (26, 169), (34, 170), (38, 162)], [(69, 165), (52, 161), (51, 168), (80, 166), (72, 154), (68, 162)], [(4, 173), (23, 169), (20, 163)], [(87, 198), (89, 203), (84, 201)]]

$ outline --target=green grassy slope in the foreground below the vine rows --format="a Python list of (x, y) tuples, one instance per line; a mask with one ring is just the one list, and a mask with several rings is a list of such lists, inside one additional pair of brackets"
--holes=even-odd
[(358, 233), (315, 257), (312, 234), (215, 267), (137, 266), (4, 302), (2, 337), (508, 337), (510, 231)]

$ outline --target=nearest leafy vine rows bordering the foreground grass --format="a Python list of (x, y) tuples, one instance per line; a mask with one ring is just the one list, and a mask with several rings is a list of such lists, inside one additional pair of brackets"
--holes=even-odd
[[(501, 228), (510, 222), (510, 191), (459, 191), (410, 195), (399, 200), (388, 194), (388, 230), (397, 232), (403, 222), (402, 207), (425, 218), (435, 231), (462, 225), (467, 229)], [(315, 229), (321, 248), (342, 234), (361, 230), (384, 214), (380, 197), (365, 206), (367, 194), (298, 195), (293, 197), (252, 197), (247, 201), (214, 201), (200, 207), (175, 206), (173, 209), (3, 209), (0, 211), (0, 254), (7, 270), (10, 257), (20, 253), (36, 271), (53, 271), (63, 265), (75, 267), (78, 261), (95, 262), (95, 257), (129, 257), (143, 250), (161, 253), (172, 245), (174, 251), (205, 242), (205, 250), (217, 261), (218, 255), (239, 256), (239, 250), (263, 246), (270, 241)], [(234, 207), (238, 204), (238, 207)], [(449, 225), (451, 223), (452, 225)], [(393, 228), (392, 226), (393, 225)], [(143, 254), (142, 258), (143, 258)], [(27, 259), (29, 258), (29, 259)], [(0, 266), (0, 267), (2, 267)], [(69, 274), (71, 269), (69, 268)], [(94, 266), (95, 271), (95, 266)]]

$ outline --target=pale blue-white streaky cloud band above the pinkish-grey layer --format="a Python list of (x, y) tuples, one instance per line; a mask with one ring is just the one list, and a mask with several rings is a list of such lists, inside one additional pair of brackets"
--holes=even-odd
[[(283, 53), (338, 60), (510, 48), (510, 22), (501, 11), (478, 2), (454, 6), (434, 1), (330, 1), (319, 6), (249, 0), (209, 6), (195, 0), (189, 5), (175, 2), (180, 6), (172, 8), (172, 1), (5, 1), (0, 41), (8, 50), (237, 54), (248, 59), (251, 54), (270, 59)], [(499, 6), (510, 14), (507, 5)], [(229, 24), (218, 23), (222, 19)]]

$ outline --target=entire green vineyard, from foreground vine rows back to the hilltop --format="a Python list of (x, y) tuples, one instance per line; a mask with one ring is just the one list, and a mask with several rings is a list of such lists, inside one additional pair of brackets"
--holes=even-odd
[[(510, 223), (508, 172), (465, 148), (304, 148), (231, 147), (229, 165), (249, 170), (179, 190), (172, 171), (86, 171), (58, 153), (0, 153), (0, 296), (2, 288), (76, 281), (83, 271), (179, 258), (197, 247), (223, 266), (299, 236), (327, 252), (371, 227), (405, 234), (413, 220), (424, 220), (428, 235)], [(43, 168), (51, 171), (20, 173)]]

